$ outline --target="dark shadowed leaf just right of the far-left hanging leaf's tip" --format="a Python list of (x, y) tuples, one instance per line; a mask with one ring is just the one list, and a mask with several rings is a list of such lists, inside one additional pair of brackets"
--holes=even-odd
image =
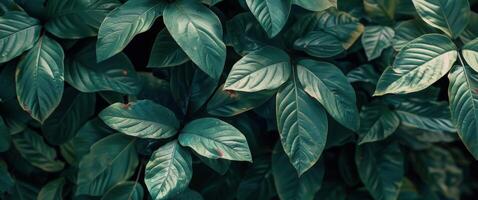
[(51, 144), (59, 145), (73, 138), (95, 113), (95, 103), (94, 94), (67, 89), (58, 108), (42, 125), (45, 139)]

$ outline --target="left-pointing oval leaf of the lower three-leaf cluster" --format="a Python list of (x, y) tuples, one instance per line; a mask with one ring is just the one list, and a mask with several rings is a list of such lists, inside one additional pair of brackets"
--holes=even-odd
[(174, 113), (150, 100), (115, 103), (101, 111), (99, 117), (112, 129), (140, 138), (168, 138), (179, 129)]

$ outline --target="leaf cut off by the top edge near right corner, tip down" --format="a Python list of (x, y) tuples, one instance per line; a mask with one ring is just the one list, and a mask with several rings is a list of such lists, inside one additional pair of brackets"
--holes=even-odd
[(468, 0), (412, 0), (418, 15), (453, 39), (468, 25), (470, 4)]

